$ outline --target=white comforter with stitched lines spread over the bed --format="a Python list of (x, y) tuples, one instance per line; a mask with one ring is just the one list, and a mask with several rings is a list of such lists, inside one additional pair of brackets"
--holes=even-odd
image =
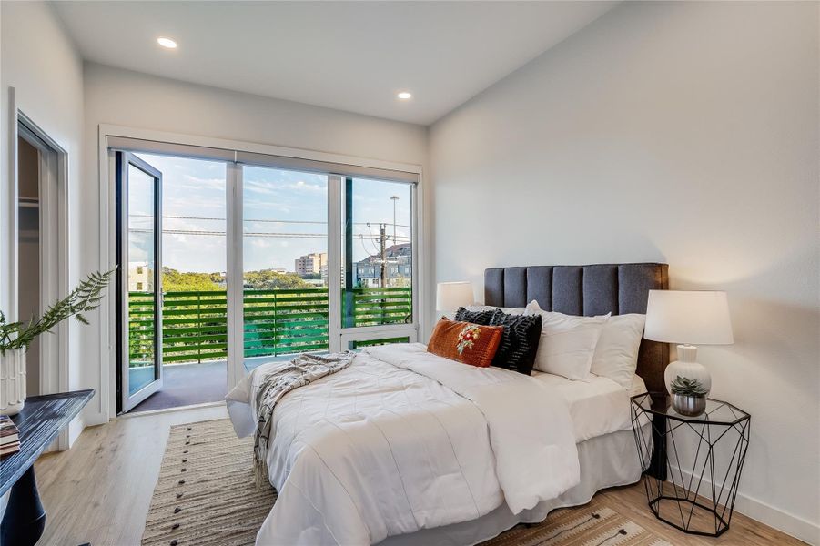
[[(255, 423), (254, 376), (228, 394), (240, 436)], [(278, 501), (258, 545), (373, 544), (504, 501), (518, 513), (579, 481), (572, 421), (551, 387), (420, 344), (369, 349), (290, 392), (271, 430)]]

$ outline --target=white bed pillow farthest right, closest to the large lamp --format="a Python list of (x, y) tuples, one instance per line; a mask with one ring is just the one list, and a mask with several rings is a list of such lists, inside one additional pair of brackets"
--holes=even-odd
[(646, 315), (614, 315), (606, 321), (592, 356), (590, 371), (631, 389)]

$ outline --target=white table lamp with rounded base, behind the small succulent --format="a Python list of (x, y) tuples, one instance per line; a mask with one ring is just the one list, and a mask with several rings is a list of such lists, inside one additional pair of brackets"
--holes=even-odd
[(698, 345), (731, 345), (732, 322), (726, 293), (718, 291), (650, 290), (643, 337), (664, 343), (679, 343), (678, 360), (663, 373), (666, 389), (678, 376), (696, 379), (712, 389), (709, 370), (697, 361)]

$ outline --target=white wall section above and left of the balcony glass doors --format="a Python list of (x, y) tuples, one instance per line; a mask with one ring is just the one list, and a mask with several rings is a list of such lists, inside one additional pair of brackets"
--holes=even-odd
[[(425, 127), (349, 114), (329, 108), (198, 86), (157, 76), (86, 64), (86, 177), (83, 233), (94, 244), (84, 263), (99, 264), (100, 228), (97, 130), (100, 124), (147, 128), (190, 136), (294, 147), (353, 157), (424, 165)], [(103, 234), (106, 235), (106, 234)], [(98, 266), (102, 268), (102, 266)], [(83, 332), (89, 352), (82, 381), (106, 389), (100, 380), (99, 332)], [(114, 340), (112, 339), (113, 343)], [(113, 363), (104, 362), (113, 374)], [(112, 375), (113, 377), (113, 375)], [(99, 391), (99, 390), (98, 390)], [(113, 397), (114, 394), (112, 393)], [(86, 410), (89, 424), (108, 418), (105, 397)]]

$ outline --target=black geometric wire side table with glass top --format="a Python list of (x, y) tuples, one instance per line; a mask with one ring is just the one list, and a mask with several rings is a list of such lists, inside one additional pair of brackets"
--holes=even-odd
[[(632, 398), (632, 423), (641, 468), (647, 468), (653, 438), (642, 427), (652, 420), (662, 442), (667, 480), (644, 475), (646, 499), (655, 517), (691, 534), (716, 537), (729, 529), (734, 499), (749, 447), (751, 416), (732, 404), (707, 399), (697, 417), (679, 414), (672, 399)], [(656, 425), (656, 423), (662, 423)]]

